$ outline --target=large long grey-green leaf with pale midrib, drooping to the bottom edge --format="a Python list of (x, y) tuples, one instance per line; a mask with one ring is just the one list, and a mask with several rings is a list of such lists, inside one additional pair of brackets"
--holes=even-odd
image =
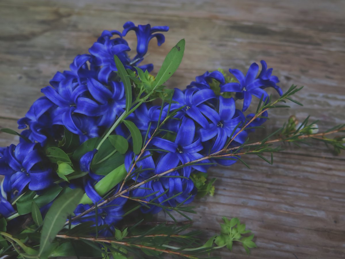
[(43, 221), (39, 257), (48, 257), (55, 236), (79, 204), (82, 195), (81, 189), (70, 189), (53, 202)]

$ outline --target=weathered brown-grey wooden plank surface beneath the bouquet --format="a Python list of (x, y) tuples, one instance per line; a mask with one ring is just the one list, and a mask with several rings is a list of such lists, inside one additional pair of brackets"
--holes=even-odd
[[(321, 128), (345, 122), (345, 2), (290, 1), (0, 1), (0, 126), (16, 128), (57, 70), (68, 69), (104, 29), (168, 25), (166, 43), (151, 42), (157, 64), (184, 37), (184, 60), (169, 81), (184, 87), (205, 70), (246, 69), (265, 59), (283, 89), (305, 85), (304, 107), (273, 111), (265, 134), (295, 114), (321, 119)], [(134, 35), (129, 35), (133, 44)], [(0, 134), (1, 146), (16, 142)], [(222, 258), (345, 258), (345, 157), (326, 147), (287, 148), (269, 166), (248, 157), (210, 170), (214, 197), (195, 201), (195, 226), (219, 231), (221, 216), (239, 217), (256, 235), (257, 249), (222, 250)], [(164, 218), (164, 215), (161, 215)]]

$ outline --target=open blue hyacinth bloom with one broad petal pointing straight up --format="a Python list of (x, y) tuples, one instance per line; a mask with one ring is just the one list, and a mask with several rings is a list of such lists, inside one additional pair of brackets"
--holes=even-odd
[[(220, 151), (224, 148), (231, 134), (235, 136), (240, 131), (244, 121), (243, 113), (235, 107), (235, 100), (219, 96), (219, 114), (216, 116), (216, 121), (210, 123), (207, 129), (200, 128), (201, 141), (205, 142), (215, 137), (211, 153)], [(245, 131), (242, 131), (234, 138), (234, 141), (243, 144), (247, 135)]]

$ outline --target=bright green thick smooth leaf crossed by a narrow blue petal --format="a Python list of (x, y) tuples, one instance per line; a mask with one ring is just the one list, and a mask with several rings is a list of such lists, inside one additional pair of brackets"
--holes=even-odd
[[(113, 171), (111, 171), (109, 174), (104, 176), (101, 180), (99, 180), (93, 188), (95, 191), (100, 195), (103, 196), (107, 192), (109, 192), (112, 188), (114, 188), (119, 182), (125, 179), (127, 175), (125, 165), (122, 164)], [(82, 196), (82, 199), (80, 200), (80, 203), (82, 204), (92, 204), (92, 201), (87, 196), (86, 193)]]

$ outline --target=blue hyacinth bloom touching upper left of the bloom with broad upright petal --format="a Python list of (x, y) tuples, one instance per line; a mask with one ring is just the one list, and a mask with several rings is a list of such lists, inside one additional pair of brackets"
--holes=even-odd
[(172, 100), (176, 103), (171, 104), (171, 110), (185, 106), (183, 111), (200, 126), (207, 128), (209, 126), (207, 118), (214, 121), (214, 117), (217, 115), (214, 109), (205, 103), (215, 97), (216, 95), (211, 89), (188, 88), (183, 92), (175, 88)]

